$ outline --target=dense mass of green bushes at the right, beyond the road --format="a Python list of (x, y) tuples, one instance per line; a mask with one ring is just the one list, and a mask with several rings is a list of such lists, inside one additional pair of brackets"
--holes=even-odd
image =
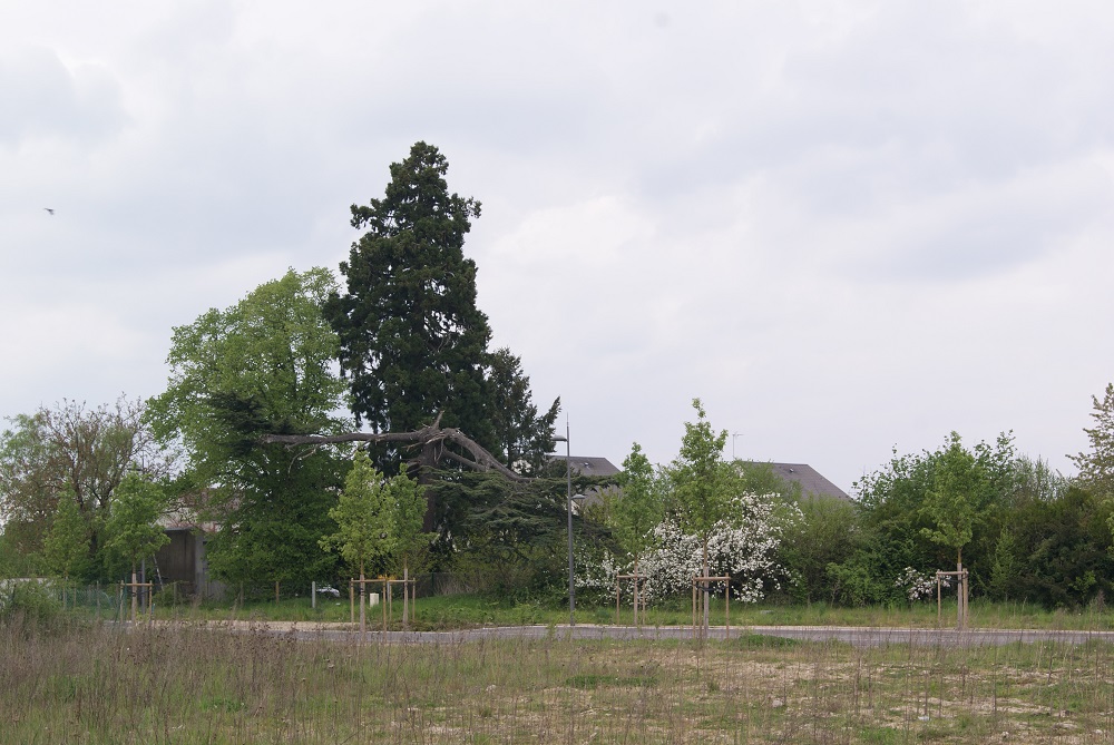
[(862, 539), (828, 568), (839, 601), (898, 600), (892, 582), (906, 567), (950, 569), (960, 558), (974, 588), (998, 600), (1076, 607), (1111, 592), (1110, 504), (1039, 459), (1018, 458), (1008, 434), (968, 450), (952, 432), (942, 448), (895, 457), (857, 487)]

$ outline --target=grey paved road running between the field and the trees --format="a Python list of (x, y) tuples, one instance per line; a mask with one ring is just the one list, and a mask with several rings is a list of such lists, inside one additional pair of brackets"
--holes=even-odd
[[(293, 634), (303, 639), (354, 640), (359, 631), (336, 627), (306, 627), (304, 625), (253, 625), (240, 626), (234, 630), (266, 630), (273, 634)], [(847, 626), (747, 626), (732, 628), (731, 638), (743, 634), (760, 634), (764, 636), (800, 639), (803, 641), (837, 640), (857, 647), (877, 647), (891, 644), (911, 644), (918, 646), (990, 646), (1007, 644), (1028, 644), (1034, 641), (1059, 641), (1064, 644), (1086, 644), (1098, 640), (1114, 643), (1114, 631), (1051, 631), (1037, 629), (1000, 630), (974, 629), (956, 631), (954, 629), (911, 629), (911, 628), (869, 628)], [(388, 631), (385, 640), (392, 644), (458, 644), (480, 639), (544, 639), (547, 637), (574, 639), (688, 639), (692, 629), (683, 626), (643, 627), (634, 626), (499, 626), (490, 628), (465, 629), (457, 631)], [(710, 629), (709, 636), (714, 639), (727, 638), (727, 629), (722, 626)], [(384, 640), (382, 631), (369, 630), (365, 635), (369, 641)]]

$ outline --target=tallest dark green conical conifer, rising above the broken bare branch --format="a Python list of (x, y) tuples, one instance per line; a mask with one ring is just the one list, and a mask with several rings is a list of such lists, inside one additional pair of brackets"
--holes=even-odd
[(449, 193), (448, 167), (436, 147), (418, 143), (391, 164), (382, 199), (352, 206), (352, 226), (367, 233), (341, 263), (346, 290), (330, 296), (325, 313), (358, 422), (414, 431), (440, 414), (494, 449), (485, 378), (491, 331), (476, 307), (476, 264), (463, 255), (480, 204)]

